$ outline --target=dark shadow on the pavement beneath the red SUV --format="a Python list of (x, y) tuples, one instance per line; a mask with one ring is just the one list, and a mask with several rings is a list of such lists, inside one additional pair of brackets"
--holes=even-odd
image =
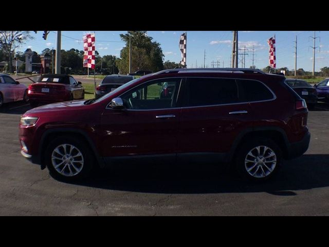
[(75, 184), (144, 193), (267, 192), (295, 196), (296, 190), (329, 186), (329, 155), (310, 154), (285, 161), (276, 176), (264, 183), (242, 181), (211, 165), (153, 165), (104, 169)]

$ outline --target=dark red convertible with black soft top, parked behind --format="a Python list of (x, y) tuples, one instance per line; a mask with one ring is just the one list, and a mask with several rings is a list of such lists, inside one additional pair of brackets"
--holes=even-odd
[(47, 74), (29, 85), (28, 97), (31, 107), (36, 107), (39, 104), (84, 99), (84, 88), (72, 76)]

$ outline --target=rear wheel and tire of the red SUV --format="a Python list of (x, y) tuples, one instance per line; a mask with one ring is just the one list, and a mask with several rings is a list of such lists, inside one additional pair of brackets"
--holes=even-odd
[(281, 161), (282, 151), (275, 142), (267, 138), (255, 138), (240, 146), (235, 167), (243, 179), (261, 182), (277, 173)]

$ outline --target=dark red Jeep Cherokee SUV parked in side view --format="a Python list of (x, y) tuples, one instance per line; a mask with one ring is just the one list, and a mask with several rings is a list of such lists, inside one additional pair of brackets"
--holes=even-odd
[(19, 138), (23, 156), (66, 181), (96, 166), (183, 161), (229, 164), (245, 178), (266, 180), (283, 159), (307, 150), (307, 114), (284, 76), (168, 69), (99, 99), (27, 111)]

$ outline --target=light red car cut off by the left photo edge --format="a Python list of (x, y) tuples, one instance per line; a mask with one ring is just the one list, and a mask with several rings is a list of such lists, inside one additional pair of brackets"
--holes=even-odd
[(6, 74), (0, 74), (0, 107), (4, 103), (24, 100), (28, 102), (27, 86)]

